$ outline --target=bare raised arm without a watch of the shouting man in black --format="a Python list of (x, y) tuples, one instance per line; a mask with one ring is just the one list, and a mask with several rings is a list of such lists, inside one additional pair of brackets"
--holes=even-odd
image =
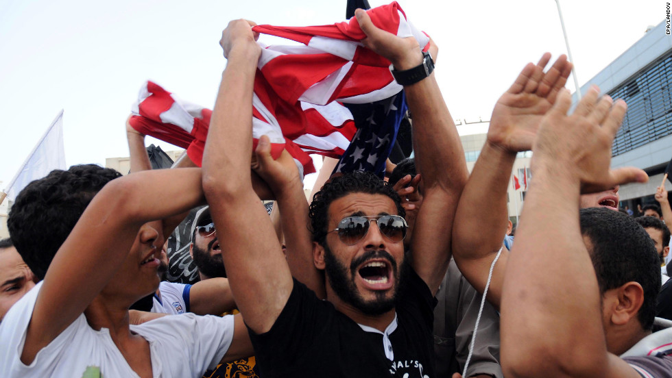
[(293, 281), (271, 220), (252, 190), (252, 88), (261, 47), (250, 25), (232, 21), (222, 34), (228, 61), (206, 140), (203, 189), (221, 230), (218, 237), (226, 243), (222, 257), (238, 308), (248, 327), (263, 333), (285, 307)]

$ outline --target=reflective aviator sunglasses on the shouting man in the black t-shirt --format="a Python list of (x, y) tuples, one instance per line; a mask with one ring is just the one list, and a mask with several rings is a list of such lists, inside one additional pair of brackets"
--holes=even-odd
[(341, 242), (355, 245), (368, 233), (371, 220), (376, 220), (381, 234), (392, 242), (398, 243), (406, 237), (408, 225), (406, 220), (398, 215), (348, 216), (341, 219), (338, 227), (328, 231), (327, 234), (338, 231)]

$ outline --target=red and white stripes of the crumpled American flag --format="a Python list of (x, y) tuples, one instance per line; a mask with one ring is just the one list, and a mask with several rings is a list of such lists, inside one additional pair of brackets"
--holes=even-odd
[[(413, 36), (429, 49), (429, 37), (406, 21), (398, 3), (367, 12), (381, 29)], [(403, 89), (389, 72), (389, 61), (361, 45), (365, 35), (355, 18), (315, 27), (258, 25), (254, 31), (304, 44), (264, 46), (252, 99), (253, 147), (267, 135), (272, 155), (278, 157), (287, 149), (304, 174), (315, 172), (310, 153), (338, 158), (355, 135), (352, 114), (341, 103), (378, 101)], [(147, 81), (130, 124), (143, 134), (186, 148), (200, 165), (211, 114)]]

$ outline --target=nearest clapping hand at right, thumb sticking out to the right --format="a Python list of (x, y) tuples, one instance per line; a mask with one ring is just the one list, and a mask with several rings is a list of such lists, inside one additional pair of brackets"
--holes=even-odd
[(578, 179), (582, 193), (648, 181), (647, 174), (638, 168), (610, 169), (612, 142), (627, 105), (623, 100), (613, 103), (607, 95), (597, 97), (598, 88), (590, 88), (575, 112), (567, 115), (571, 96), (566, 89), (560, 91), (557, 102), (542, 118), (534, 141), (537, 162), (549, 164), (558, 175)]

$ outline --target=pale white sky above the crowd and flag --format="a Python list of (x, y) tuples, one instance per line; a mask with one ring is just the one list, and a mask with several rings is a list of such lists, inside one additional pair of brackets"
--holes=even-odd
[[(564, 0), (579, 84), (660, 23), (664, 4)], [(440, 47), (437, 79), (454, 118), (489, 119), (526, 62), (566, 52), (553, 0), (400, 5)], [(211, 107), (226, 64), (218, 41), (231, 19), (322, 25), (341, 21), (345, 8), (345, 0), (0, 0), (0, 189), (61, 109), (67, 163), (104, 164), (128, 155), (124, 120), (146, 79)]]

